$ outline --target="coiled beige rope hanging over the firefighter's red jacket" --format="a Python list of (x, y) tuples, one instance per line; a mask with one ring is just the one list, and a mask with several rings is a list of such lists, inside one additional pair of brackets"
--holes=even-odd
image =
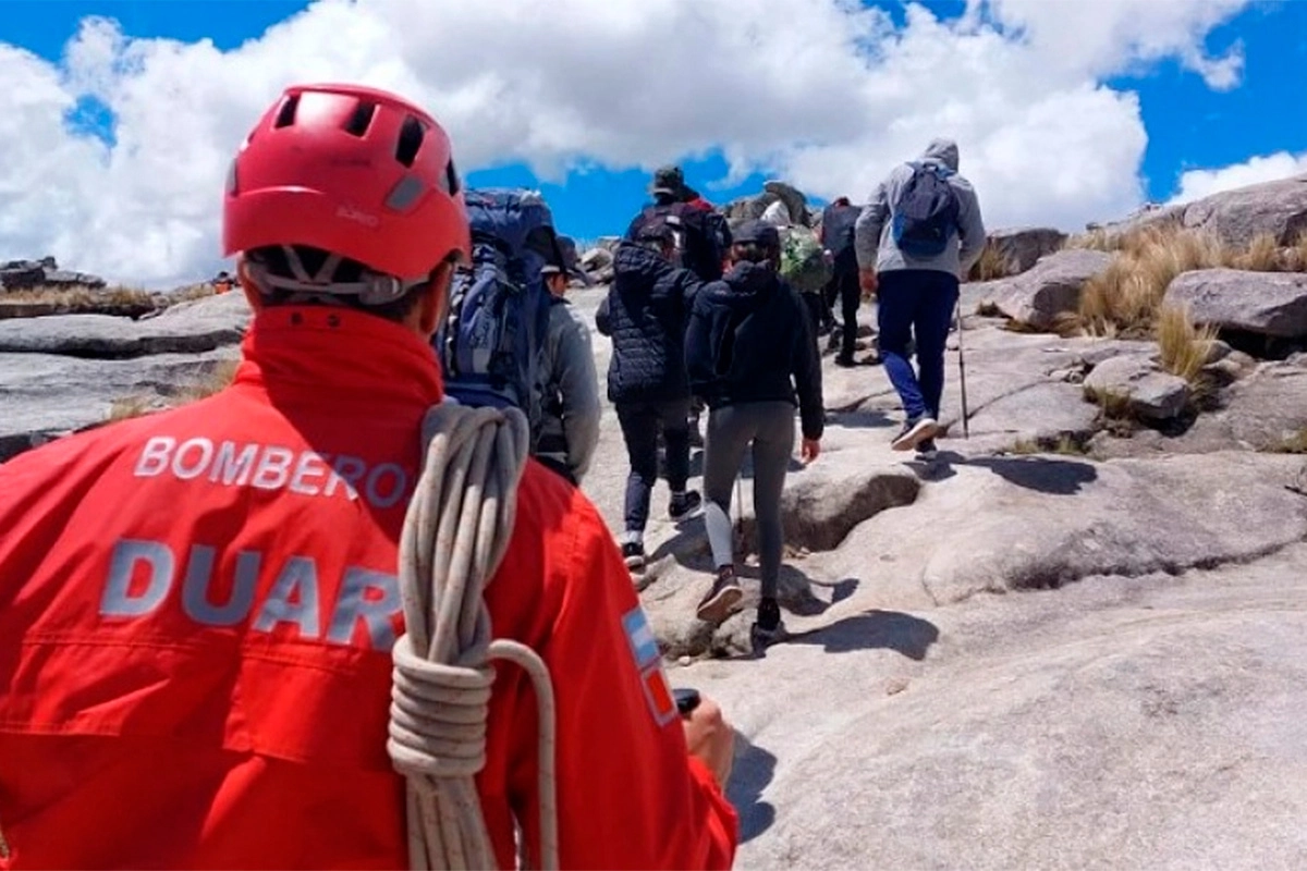
[[(482, 590), (503, 559), (527, 461), (516, 409), (434, 406), (422, 426), (422, 475), (404, 518), (400, 593), (405, 633), (395, 642), (387, 750), (408, 778), (413, 868), (494, 868), (474, 776), (485, 765), (491, 659), (516, 663), (536, 691), (540, 722), (541, 867), (558, 867), (554, 693), (528, 646), (490, 639)], [(523, 849), (524, 853), (524, 849)]]

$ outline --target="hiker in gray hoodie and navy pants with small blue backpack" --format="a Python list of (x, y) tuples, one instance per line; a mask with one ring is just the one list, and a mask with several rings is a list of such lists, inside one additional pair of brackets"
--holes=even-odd
[[(878, 296), (881, 359), (907, 415), (895, 451), (935, 456), (958, 285), (984, 243), (980, 202), (958, 175), (953, 140), (937, 138), (919, 161), (895, 167), (857, 218), (859, 282)], [(919, 373), (908, 359), (914, 338)]]

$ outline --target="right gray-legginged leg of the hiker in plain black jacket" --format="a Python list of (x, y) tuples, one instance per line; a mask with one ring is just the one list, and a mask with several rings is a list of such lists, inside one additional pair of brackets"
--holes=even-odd
[(795, 449), (795, 406), (789, 402), (758, 402), (754, 414), (758, 426), (753, 437), (753, 513), (758, 518), (762, 597), (774, 599), (784, 547), (780, 494), (786, 487), (789, 454)]

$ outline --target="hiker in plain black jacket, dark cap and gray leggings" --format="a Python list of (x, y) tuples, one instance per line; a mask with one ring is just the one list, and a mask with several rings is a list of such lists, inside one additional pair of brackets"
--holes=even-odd
[(775, 636), (780, 631), (780, 494), (795, 445), (795, 406), (802, 420), (801, 456), (812, 462), (821, 453), (825, 427), (821, 360), (804, 303), (778, 273), (776, 229), (750, 221), (735, 232), (733, 242), (735, 266), (698, 293), (685, 340), (691, 389), (710, 409), (703, 490), (716, 577), (698, 614), (702, 620), (720, 623), (742, 597), (735, 575), (731, 490), (744, 452), (752, 447), (762, 563), (755, 628)]

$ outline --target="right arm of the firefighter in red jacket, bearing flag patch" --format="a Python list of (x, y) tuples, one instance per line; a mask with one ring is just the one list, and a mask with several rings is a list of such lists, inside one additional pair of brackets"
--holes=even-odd
[[(561, 866), (729, 868), (738, 816), (711, 770), (729, 733), (715, 752), (689, 753), (630, 572), (589, 500), (571, 504), (570, 568), (546, 581), (558, 610), (542, 648), (557, 699)], [(535, 722), (523, 721), (518, 740), (531, 747)], [(538, 842), (531, 777), (520, 789), (528, 842)]]

